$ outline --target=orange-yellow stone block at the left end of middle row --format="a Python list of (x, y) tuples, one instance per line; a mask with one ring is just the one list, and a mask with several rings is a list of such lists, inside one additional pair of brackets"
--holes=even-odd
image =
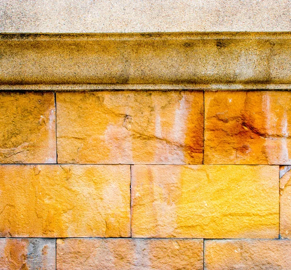
[(127, 165), (0, 166), (1, 237), (129, 237)]

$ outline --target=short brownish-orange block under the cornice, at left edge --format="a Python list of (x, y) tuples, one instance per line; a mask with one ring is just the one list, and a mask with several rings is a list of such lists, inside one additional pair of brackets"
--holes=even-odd
[(55, 163), (54, 94), (0, 93), (0, 163)]

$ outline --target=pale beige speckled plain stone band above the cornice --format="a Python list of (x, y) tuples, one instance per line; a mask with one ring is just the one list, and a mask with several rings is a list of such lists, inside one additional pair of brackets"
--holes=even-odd
[(288, 0), (1, 0), (0, 32), (291, 31)]

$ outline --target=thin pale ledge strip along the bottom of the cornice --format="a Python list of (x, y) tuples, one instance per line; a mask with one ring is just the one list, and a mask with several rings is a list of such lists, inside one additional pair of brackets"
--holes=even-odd
[(114, 84), (0, 84), (0, 91), (80, 91), (80, 90), (290, 90), (291, 83), (114, 83)]

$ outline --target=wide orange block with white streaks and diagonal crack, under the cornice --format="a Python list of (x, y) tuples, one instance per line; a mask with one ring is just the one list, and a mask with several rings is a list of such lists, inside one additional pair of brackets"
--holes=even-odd
[(201, 164), (203, 93), (57, 93), (61, 163)]

